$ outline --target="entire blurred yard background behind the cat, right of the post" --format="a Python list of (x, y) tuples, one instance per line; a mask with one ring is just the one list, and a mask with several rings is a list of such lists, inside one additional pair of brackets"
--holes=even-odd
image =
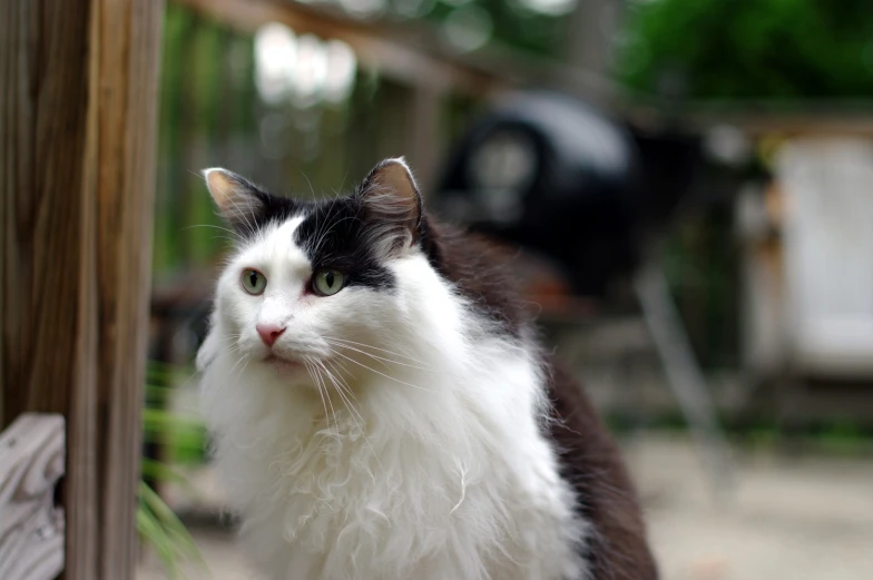
[(867, 0), (168, 0), (140, 580), (257, 578), (196, 412), (197, 171), (321, 196), (400, 155), (512, 252), (665, 579), (873, 578)]

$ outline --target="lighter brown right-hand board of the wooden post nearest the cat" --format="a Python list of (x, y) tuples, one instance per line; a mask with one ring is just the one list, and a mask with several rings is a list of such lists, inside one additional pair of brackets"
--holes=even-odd
[(99, 392), (106, 413), (100, 578), (129, 579), (148, 342), (157, 83), (164, 6), (101, 0), (97, 197)]

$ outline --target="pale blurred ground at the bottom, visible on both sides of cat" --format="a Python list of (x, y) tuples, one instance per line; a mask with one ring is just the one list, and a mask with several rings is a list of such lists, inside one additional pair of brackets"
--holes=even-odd
[[(736, 485), (714, 501), (688, 441), (647, 434), (626, 445), (665, 580), (873, 579), (873, 458), (736, 458)], [(208, 570), (259, 580), (219, 530), (195, 528)], [(137, 580), (166, 578), (146, 558)]]

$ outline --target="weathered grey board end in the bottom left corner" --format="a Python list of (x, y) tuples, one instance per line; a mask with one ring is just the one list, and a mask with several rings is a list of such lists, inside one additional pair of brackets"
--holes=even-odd
[(0, 433), (0, 578), (52, 580), (63, 569), (63, 417), (26, 413)]

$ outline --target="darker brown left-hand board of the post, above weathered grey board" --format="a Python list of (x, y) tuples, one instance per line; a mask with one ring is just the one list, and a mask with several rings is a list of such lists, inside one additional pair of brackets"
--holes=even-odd
[[(0, 383), (3, 424), (26, 410), (66, 414), (95, 381), (80, 302), (89, 229), (84, 199), (90, 4), (12, 1), (0, 14)], [(62, 105), (61, 105), (62, 104)], [(92, 318), (90, 318), (92, 320)], [(82, 348), (73, 347), (81, 344)], [(79, 352), (81, 351), (81, 352)], [(66, 485), (70, 552), (92, 561), (97, 511), (95, 405), (67, 426), (75, 469)], [(0, 427), (2, 424), (0, 424)], [(90, 501), (87, 501), (90, 500)], [(90, 547), (90, 551), (89, 551)], [(88, 578), (91, 569), (78, 578)], [(96, 574), (91, 576), (96, 578)], [(73, 576), (73, 578), (76, 578)]]

